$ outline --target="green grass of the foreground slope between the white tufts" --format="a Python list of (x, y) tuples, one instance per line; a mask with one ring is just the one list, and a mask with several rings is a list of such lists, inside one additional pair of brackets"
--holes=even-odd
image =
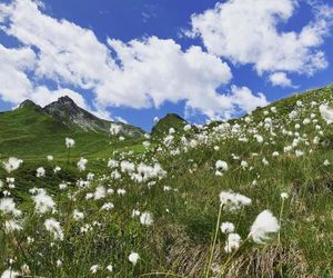
[[(239, 141), (240, 136), (229, 135), (224, 139), (229, 131), (214, 131), (218, 123), (201, 131), (201, 135), (208, 135), (208, 140), (195, 148), (184, 148), (180, 143), (181, 137), (200, 141), (199, 131), (194, 129), (179, 131), (171, 146), (153, 145), (149, 150), (144, 150), (140, 140), (111, 141), (110, 145), (110, 138), (72, 133), (77, 146), (68, 169), (59, 173), (53, 173), (52, 168), (56, 165), (67, 168), (64, 138), (60, 138), (65, 131), (59, 132), (59, 140), (50, 142), (50, 148), (41, 148), (36, 153), (33, 149), (23, 152), (23, 147), (9, 147), (6, 156), (10, 151), (13, 155), (26, 153), (24, 162), (10, 175), (2, 169), (0, 179), (16, 177), (17, 187), (10, 191), (24, 211), (24, 221), (21, 231), (7, 234), (1, 230), (0, 270), (8, 269), (9, 259), (13, 259), (12, 269), (20, 270), (27, 264), (30, 275), (42, 277), (205, 277), (206, 274), (209, 277), (332, 277), (333, 149), (330, 143), (314, 145), (313, 139), (319, 136), (321, 142), (330, 141), (333, 127), (321, 118), (317, 106), (311, 106), (312, 101), (331, 102), (332, 92), (333, 87), (327, 87), (278, 101), (254, 111), (251, 123), (245, 123), (244, 118), (233, 120), (242, 127), (242, 136), (249, 139), (248, 142)], [(296, 108), (297, 100), (303, 101), (303, 108)], [(264, 115), (273, 106), (278, 112)], [(289, 113), (295, 108), (299, 110), (297, 119), (289, 120)], [(302, 125), (311, 113), (315, 115), (317, 122)], [(275, 135), (260, 123), (266, 117), (272, 118)], [(43, 119), (46, 122), (48, 120)], [(300, 123), (301, 128), (295, 130), (295, 123)], [(322, 127), (323, 135), (315, 129), (316, 125)], [(303, 137), (306, 140), (300, 140), (293, 151), (284, 152), (284, 147), (293, 142), (294, 136), (284, 135), (283, 128), (299, 132), (301, 137), (306, 133)], [(263, 136), (264, 142), (253, 138), (253, 129)], [(18, 136), (13, 128), (7, 130), (4, 138)], [(32, 133), (31, 130), (24, 132), (22, 136)], [(42, 132), (40, 130), (39, 135)], [(40, 143), (48, 140), (47, 136), (41, 138), (36, 140)], [(214, 146), (220, 149), (214, 150)], [(179, 155), (172, 155), (176, 153), (176, 149)], [(114, 150), (118, 152), (113, 153)], [(296, 157), (295, 150), (302, 150), (304, 156)], [(280, 156), (272, 157), (273, 151), (279, 151)], [(233, 159), (231, 153), (240, 159)], [(54, 155), (54, 161), (47, 161), (46, 155)], [(82, 155), (89, 158), (89, 162), (87, 170), (79, 172), (75, 163)], [(112, 179), (112, 170), (107, 167), (111, 157), (137, 165), (159, 161), (168, 175), (141, 183), (127, 173), (121, 173), (121, 179)], [(263, 165), (263, 158), (269, 165)], [(222, 177), (215, 176), (215, 161), (219, 159), (229, 165)], [(323, 165), (326, 159), (331, 165)], [(245, 170), (240, 166), (242, 160), (249, 162)], [(47, 169), (44, 178), (36, 177), (36, 169), (40, 166)], [(118, 168), (118, 171), (121, 172), (121, 169)], [(85, 188), (78, 188), (75, 181), (85, 179), (88, 172), (95, 173), (94, 181)], [(64, 191), (58, 189), (62, 181), (71, 182)], [(94, 192), (99, 186), (112, 188), (114, 193), (100, 200), (87, 199), (87, 193)], [(34, 212), (29, 193), (32, 187), (46, 188), (57, 202), (58, 212)], [(164, 190), (164, 187), (171, 190)], [(125, 189), (127, 193), (119, 196), (118, 189)], [(279, 218), (281, 192), (287, 192), (289, 198), (282, 211), (280, 241), (278, 234), (272, 234), (264, 245), (250, 240), (238, 252), (230, 255), (223, 250), (225, 235), (218, 234), (212, 266), (214, 269), (224, 267), (224, 272), (219, 276), (219, 272), (208, 271), (206, 268), (222, 190), (233, 190), (252, 199), (251, 206), (236, 212), (223, 209), (221, 215), (221, 221), (233, 222), (243, 240), (255, 217), (264, 209)], [(103, 203), (109, 201), (114, 208), (101, 210)], [(83, 211), (84, 219), (74, 221), (74, 209)], [(132, 218), (133, 209), (151, 212), (153, 225), (144, 226), (138, 218)], [(64, 240), (54, 240), (46, 231), (43, 221), (50, 217), (59, 220)], [(11, 216), (2, 214), (2, 225)], [(82, 234), (80, 229), (84, 225), (90, 225), (91, 230)], [(28, 245), (28, 236), (34, 238), (33, 244)], [(128, 260), (131, 251), (140, 255), (135, 266)], [(231, 256), (230, 264), (225, 265)], [(57, 267), (58, 259), (63, 262), (61, 267)], [(112, 274), (105, 270), (109, 264), (113, 266)], [(99, 265), (99, 271), (94, 275), (90, 272), (93, 265)]]

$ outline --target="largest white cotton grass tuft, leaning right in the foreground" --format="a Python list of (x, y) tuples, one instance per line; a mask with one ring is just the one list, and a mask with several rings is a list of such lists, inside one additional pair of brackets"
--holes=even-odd
[(280, 226), (276, 217), (270, 210), (264, 210), (254, 220), (249, 237), (256, 244), (262, 244), (269, 239), (268, 234), (278, 232)]

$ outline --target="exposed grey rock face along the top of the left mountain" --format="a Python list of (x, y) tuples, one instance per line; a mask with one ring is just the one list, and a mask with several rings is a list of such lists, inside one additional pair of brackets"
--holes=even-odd
[(84, 109), (78, 107), (75, 102), (67, 96), (59, 98), (57, 101), (51, 102), (44, 108), (39, 107), (31, 100), (24, 100), (20, 105), (20, 108), (22, 107), (39, 108), (53, 119), (64, 125), (71, 127), (79, 127), (85, 131), (110, 133), (111, 123), (115, 123), (121, 126), (121, 131), (119, 132), (119, 136), (135, 138), (144, 135), (144, 131), (138, 127), (125, 125), (122, 122), (111, 122), (108, 120), (100, 119), (94, 115), (85, 111)]

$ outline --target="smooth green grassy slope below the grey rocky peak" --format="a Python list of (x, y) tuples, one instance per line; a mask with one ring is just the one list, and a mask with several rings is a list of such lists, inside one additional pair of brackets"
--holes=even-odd
[(129, 146), (138, 149), (141, 146), (141, 139), (120, 142), (117, 138), (110, 138), (105, 133), (69, 128), (31, 107), (0, 113), (0, 153), (2, 157), (17, 156), (36, 160), (53, 155), (56, 158), (61, 158), (65, 152), (65, 137), (73, 138), (77, 142), (77, 147), (72, 149), (73, 157), (108, 157), (114, 149)]

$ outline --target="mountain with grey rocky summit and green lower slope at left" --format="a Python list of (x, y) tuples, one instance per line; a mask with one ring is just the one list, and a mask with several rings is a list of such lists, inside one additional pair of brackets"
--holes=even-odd
[[(121, 126), (117, 136), (110, 135), (112, 123)], [(65, 137), (79, 142), (73, 149), (75, 156), (107, 155), (115, 146), (134, 146), (143, 135), (138, 127), (93, 116), (69, 97), (61, 97), (44, 108), (24, 100), (17, 109), (0, 112), (0, 158), (62, 155)], [(119, 136), (127, 140), (121, 142)]]

